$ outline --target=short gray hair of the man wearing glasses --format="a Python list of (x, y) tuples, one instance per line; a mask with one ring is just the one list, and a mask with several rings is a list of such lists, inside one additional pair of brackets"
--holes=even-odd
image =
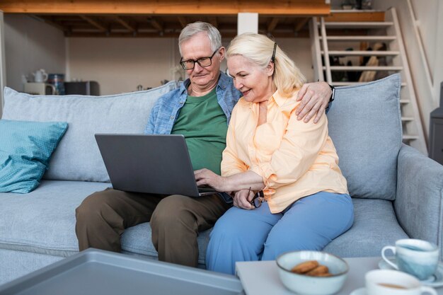
[(212, 51), (215, 51), (222, 47), (222, 36), (220, 35), (219, 30), (211, 25), (210, 23), (204, 23), (202, 21), (196, 21), (195, 23), (189, 23), (183, 28), (178, 37), (178, 49), (181, 52), (181, 44), (186, 40), (189, 40), (193, 35), (197, 33), (207, 33), (207, 37), (209, 37), (209, 44), (211, 45)]

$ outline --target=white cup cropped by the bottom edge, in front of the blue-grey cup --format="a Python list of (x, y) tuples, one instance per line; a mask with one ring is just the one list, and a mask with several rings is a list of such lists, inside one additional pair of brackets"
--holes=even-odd
[(410, 274), (398, 270), (371, 270), (364, 277), (367, 295), (437, 295), (431, 287), (425, 287)]

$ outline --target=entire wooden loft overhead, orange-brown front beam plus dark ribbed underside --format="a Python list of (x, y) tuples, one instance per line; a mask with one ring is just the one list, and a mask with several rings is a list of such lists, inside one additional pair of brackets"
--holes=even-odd
[(259, 13), (259, 33), (307, 36), (312, 16), (327, 16), (325, 0), (0, 0), (4, 13), (26, 13), (67, 37), (178, 37), (186, 24), (206, 21), (234, 37), (237, 13)]

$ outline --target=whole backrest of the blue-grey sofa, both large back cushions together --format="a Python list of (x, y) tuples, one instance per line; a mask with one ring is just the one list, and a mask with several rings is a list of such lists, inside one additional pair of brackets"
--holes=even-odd
[[(149, 91), (114, 96), (30, 96), (4, 91), (2, 119), (68, 122), (44, 178), (108, 182), (96, 133), (143, 133), (152, 106), (177, 87), (171, 81)], [(329, 134), (352, 197), (395, 199), (402, 126), (400, 75), (337, 88), (328, 112)]]

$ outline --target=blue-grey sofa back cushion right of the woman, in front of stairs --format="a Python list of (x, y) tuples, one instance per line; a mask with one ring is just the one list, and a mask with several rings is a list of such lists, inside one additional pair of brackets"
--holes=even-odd
[(329, 135), (352, 197), (395, 199), (402, 141), (399, 74), (336, 89)]

